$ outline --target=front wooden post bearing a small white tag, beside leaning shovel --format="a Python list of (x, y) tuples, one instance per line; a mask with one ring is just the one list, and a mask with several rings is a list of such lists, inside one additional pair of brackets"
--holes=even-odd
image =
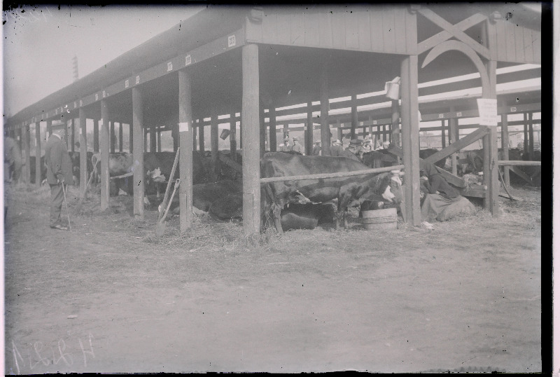
[[(179, 71), (179, 222), (181, 233), (193, 226), (193, 107), (190, 71)], [(217, 124), (217, 123), (216, 123)]]

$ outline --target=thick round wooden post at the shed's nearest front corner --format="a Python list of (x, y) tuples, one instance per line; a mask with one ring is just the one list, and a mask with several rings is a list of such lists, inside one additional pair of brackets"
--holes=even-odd
[(243, 231), (246, 237), (260, 231), (259, 67), (258, 45), (242, 47), (243, 95)]

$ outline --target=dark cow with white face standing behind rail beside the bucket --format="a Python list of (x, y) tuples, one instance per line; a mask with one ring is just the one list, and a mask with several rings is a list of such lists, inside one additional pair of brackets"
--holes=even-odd
[[(260, 160), (261, 177), (288, 177), (367, 170), (367, 166), (345, 157), (295, 156), (288, 153), (265, 153)], [(328, 203), (337, 200), (336, 228), (344, 221), (348, 228), (348, 207), (364, 200), (400, 203), (400, 179), (391, 173), (363, 174), (353, 177), (279, 181), (261, 186), (262, 219), (272, 212), (276, 231), (282, 232), (281, 210), (289, 203)]]

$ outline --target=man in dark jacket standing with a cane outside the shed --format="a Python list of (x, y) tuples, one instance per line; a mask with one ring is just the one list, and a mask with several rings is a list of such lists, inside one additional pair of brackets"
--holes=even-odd
[(73, 184), (72, 162), (66, 144), (62, 142), (66, 124), (52, 125), (52, 135), (45, 146), (47, 182), (50, 186), (50, 228), (67, 231), (60, 221), (60, 211), (64, 201), (64, 185)]

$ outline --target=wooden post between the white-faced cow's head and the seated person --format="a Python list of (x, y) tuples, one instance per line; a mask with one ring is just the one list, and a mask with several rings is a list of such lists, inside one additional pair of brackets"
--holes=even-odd
[(418, 156), (418, 56), (409, 55), (400, 65), (402, 83), (402, 151), (405, 165), (406, 221), (414, 226), (421, 223), (420, 167)]

